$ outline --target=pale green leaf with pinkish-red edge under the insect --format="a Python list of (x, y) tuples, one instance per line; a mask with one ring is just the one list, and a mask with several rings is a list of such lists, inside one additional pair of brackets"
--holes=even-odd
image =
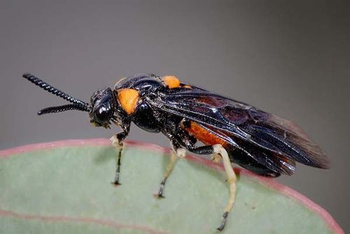
[[(220, 165), (179, 160), (156, 199), (169, 151), (129, 142), (121, 186), (104, 139), (0, 151), (0, 233), (217, 233), (228, 185)], [(272, 179), (241, 171), (222, 233), (342, 233), (321, 207)]]

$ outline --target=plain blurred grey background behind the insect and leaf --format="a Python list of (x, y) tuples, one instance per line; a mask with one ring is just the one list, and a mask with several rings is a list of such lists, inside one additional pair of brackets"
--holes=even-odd
[(345, 1), (1, 1), (0, 149), (116, 132), (79, 111), (36, 116), (65, 102), (25, 71), (86, 101), (123, 76), (174, 74), (300, 125), (332, 169), (279, 181), (350, 230), (349, 22)]

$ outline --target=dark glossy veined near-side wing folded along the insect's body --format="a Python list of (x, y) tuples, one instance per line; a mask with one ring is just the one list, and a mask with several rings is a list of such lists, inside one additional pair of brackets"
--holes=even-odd
[(294, 172), (294, 160), (329, 167), (325, 153), (295, 124), (248, 104), (195, 86), (162, 90), (157, 99), (148, 102), (194, 121), (270, 169), (285, 165), (283, 174)]

